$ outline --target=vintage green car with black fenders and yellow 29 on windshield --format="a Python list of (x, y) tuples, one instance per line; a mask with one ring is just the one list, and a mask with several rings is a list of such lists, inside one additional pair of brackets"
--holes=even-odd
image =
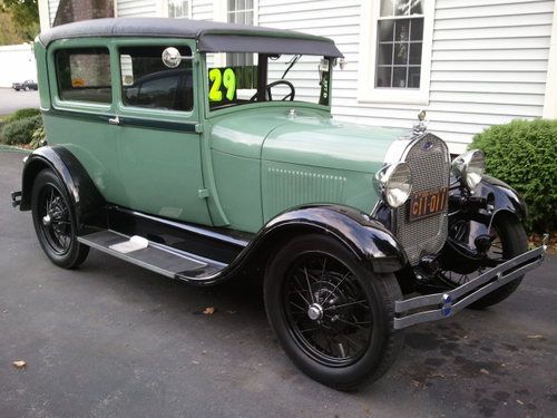
[(320, 382), (378, 379), (402, 329), (498, 303), (544, 259), (481, 152), (451, 162), (421, 121), (331, 117), (330, 39), (99, 19), (35, 54), (48, 145), (12, 201), (48, 257), (74, 269), (92, 247), (194, 285), (262, 276), (278, 340)]

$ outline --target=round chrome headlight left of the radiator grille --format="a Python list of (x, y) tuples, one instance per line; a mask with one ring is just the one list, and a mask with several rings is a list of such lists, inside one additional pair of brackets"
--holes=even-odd
[(383, 198), (391, 207), (404, 204), (412, 192), (412, 172), (408, 163), (397, 163), (383, 167), (375, 179)]

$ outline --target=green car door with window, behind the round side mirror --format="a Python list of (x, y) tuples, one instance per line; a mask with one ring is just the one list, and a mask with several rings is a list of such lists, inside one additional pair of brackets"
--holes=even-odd
[(162, 60), (165, 48), (192, 56), (187, 40), (118, 41), (115, 78), (119, 171), (125, 193), (118, 204), (168, 218), (211, 224), (201, 162), (197, 77), (190, 59), (175, 68)]

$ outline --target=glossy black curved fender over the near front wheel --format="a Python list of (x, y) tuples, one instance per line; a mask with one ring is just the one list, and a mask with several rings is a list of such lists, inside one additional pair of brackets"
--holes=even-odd
[(333, 236), (377, 273), (399, 271), (408, 262), (402, 246), (381, 223), (358, 210), (334, 204), (304, 205), (278, 214), (260, 230), (243, 255), (267, 260), (277, 246), (304, 233)]

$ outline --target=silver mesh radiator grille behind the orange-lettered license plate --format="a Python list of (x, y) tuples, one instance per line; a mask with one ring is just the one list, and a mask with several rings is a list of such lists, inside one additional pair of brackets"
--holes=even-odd
[[(444, 142), (432, 134), (411, 145), (403, 158), (412, 169), (412, 192), (449, 185), (450, 158)], [(416, 265), (423, 254), (437, 253), (447, 240), (447, 212), (413, 222), (408, 221), (410, 201), (395, 211), (395, 235)]]

